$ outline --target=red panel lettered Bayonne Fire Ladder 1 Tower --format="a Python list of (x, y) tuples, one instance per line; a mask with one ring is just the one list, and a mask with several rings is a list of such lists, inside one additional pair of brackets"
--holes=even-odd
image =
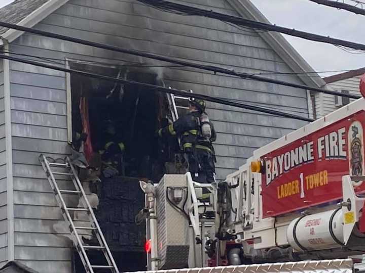
[(364, 123), (360, 111), (264, 155), (264, 218), (341, 199), (342, 176), (365, 174)]

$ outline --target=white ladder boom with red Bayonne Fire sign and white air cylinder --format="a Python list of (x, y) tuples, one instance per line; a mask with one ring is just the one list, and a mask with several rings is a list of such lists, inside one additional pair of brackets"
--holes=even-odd
[[(357, 249), (357, 244), (363, 244), (365, 237), (357, 232), (355, 225), (363, 199), (355, 197), (356, 205), (352, 204), (349, 211), (346, 207), (340, 209), (338, 202), (347, 201), (352, 189), (364, 191), (359, 178), (355, 178), (357, 182), (350, 178), (365, 174), (364, 109), (365, 100), (360, 99), (291, 132), (254, 151), (245, 165), (228, 175), (229, 183), (241, 182), (240, 187), (232, 189), (238, 238), (250, 241), (255, 250), (285, 252), (280, 247), (290, 246), (294, 252), (307, 256), (303, 258), (316, 255), (316, 250), (326, 258), (348, 256), (351, 246)], [(352, 169), (350, 162), (355, 133), (359, 140), (359, 147), (355, 148), (360, 156), (357, 170)], [(276, 156), (278, 150), (281, 152)], [(306, 155), (302, 155), (300, 162), (304, 150)], [(261, 161), (263, 173), (251, 171), (251, 163), (255, 161)], [(312, 196), (307, 196), (311, 192)], [(273, 212), (276, 215), (270, 217)]]

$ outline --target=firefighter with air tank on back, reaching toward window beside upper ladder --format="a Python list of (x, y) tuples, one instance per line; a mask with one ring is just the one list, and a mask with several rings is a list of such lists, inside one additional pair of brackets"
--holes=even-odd
[(203, 100), (190, 99), (189, 113), (161, 128), (158, 134), (161, 138), (179, 137), (193, 179), (199, 183), (213, 183), (216, 160), (212, 142), (216, 140), (216, 133), (205, 107)]

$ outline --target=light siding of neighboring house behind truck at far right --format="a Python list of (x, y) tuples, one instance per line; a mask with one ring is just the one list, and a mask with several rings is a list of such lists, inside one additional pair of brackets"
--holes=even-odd
[[(341, 92), (341, 90), (348, 90), (349, 93), (352, 95), (361, 96), (359, 90), (360, 78), (361, 75), (331, 82), (329, 84), (326, 84), (326, 86), (337, 92)], [(354, 99), (350, 99), (350, 102), (353, 101)], [(318, 104), (318, 106), (321, 108), (320, 110), (322, 111), (322, 116), (330, 114), (333, 111), (339, 109), (339, 107), (335, 105), (335, 96), (333, 95), (322, 94), (322, 96), (318, 97), (316, 104)]]

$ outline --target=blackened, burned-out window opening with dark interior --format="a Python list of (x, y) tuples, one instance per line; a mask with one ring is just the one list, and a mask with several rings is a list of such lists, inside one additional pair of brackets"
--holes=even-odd
[[(149, 71), (128, 71), (126, 68), (84, 64), (73, 64), (72, 68), (118, 76), (131, 81), (161, 84), (157, 74)], [(171, 151), (176, 149), (175, 143), (169, 144), (168, 151), (161, 149), (156, 137), (156, 131), (168, 124), (170, 115), (165, 94), (135, 84), (120, 84), (72, 75), (71, 96), (72, 132), (75, 135), (85, 131), (84, 123), (89, 123), (87, 133), (94, 154), (103, 150), (105, 144), (112, 139), (118, 144), (123, 143), (124, 146), (124, 176), (151, 180), (161, 178), (165, 173), (165, 162), (172, 160)], [(115, 132), (114, 136), (109, 136), (108, 139), (109, 123), (112, 123)], [(91, 165), (100, 164), (100, 159), (92, 158), (88, 154), (88, 148), (85, 153)]]

